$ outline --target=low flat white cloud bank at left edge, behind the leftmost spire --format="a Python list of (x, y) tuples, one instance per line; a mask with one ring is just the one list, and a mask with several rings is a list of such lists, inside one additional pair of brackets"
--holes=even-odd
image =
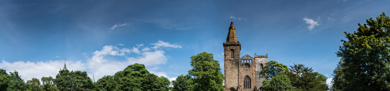
[[(9, 63), (4, 59), (0, 63), (0, 68), (7, 70), (7, 73), (14, 72), (16, 70), (21, 75), (21, 79), (24, 81), (31, 80), (33, 77), (41, 79), (42, 77), (53, 77), (57, 75), (60, 68), (64, 67), (64, 60), (55, 60), (55, 61), (38, 61), (38, 62), (23, 62), (16, 61)], [(86, 70), (85, 63), (81, 61), (66, 61), (66, 67), (68, 70)]]

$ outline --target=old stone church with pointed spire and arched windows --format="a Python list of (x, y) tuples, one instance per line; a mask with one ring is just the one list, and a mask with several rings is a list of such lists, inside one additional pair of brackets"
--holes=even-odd
[(237, 39), (233, 21), (230, 23), (226, 42), (223, 43), (225, 91), (262, 91), (259, 72), (268, 63), (268, 54), (245, 55), (240, 58), (241, 43)]

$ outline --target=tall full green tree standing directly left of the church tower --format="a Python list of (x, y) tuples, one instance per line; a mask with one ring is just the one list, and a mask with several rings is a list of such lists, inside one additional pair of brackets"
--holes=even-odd
[(220, 64), (211, 53), (199, 53), (191, 56), (192, 70), (188, 71), (190, 90), (223, 91), (223, 77)]

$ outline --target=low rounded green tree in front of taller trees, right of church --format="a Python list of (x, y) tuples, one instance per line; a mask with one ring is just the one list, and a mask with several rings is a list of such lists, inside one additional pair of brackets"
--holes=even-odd
[(287, 75), (275, 75), (264, 87), (265, 91), (293, 91), (291, 81)]

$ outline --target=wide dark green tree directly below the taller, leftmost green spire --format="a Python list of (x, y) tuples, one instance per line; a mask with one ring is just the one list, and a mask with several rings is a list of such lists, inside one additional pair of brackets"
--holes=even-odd
[(55, 77), (53, 82), (60, 91), (90, 91), (93, 88), (87, 72), (60, 70)]

